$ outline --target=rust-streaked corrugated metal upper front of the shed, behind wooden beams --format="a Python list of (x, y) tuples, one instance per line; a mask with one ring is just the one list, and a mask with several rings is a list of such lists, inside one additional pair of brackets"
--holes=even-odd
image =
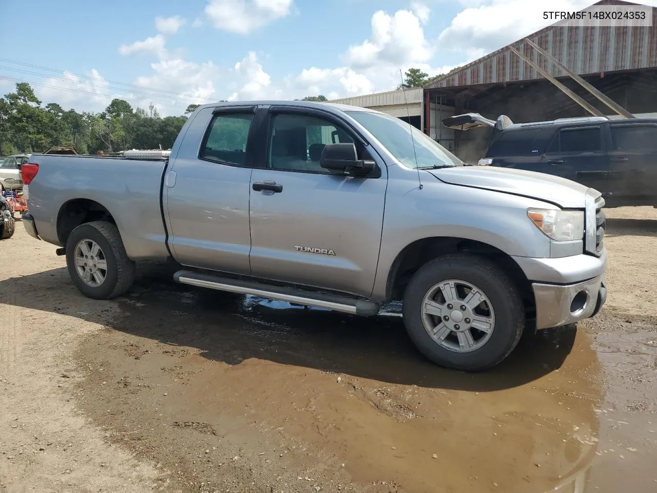
[[(639, 5), (620, 0), (602, 0), (593, 5)], [(657, 68), (657, 8), (652, 8), (652, 27), (581, 27), (551, 25), (527, 36), (577, 74), (617, 70)], [(510, 51), (514, 46), (554, 77), (566, 76), (532, 47), (520, 41), (493, 51), (424, 87), (463, 87), (468, 85), (520, 82), (543, 76)]]

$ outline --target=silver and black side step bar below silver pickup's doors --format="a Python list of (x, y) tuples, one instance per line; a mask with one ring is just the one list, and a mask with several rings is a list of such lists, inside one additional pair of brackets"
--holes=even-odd
[(218, 275), (210, 275), (189, 270), (179, 270), (173, 274), (173, 280), (181, 284), (229, 291), (230, 293), (255, 294), (272, 300), (287, 301), (306, 306), (328, 308), (336, 312), (351, 315), (373, 316), (378, 314), (379, 305), (373, 301), (338, 296), (336, 294), (316, 293), (305, 289), (272, 286), (254, 281), (229, 279)]

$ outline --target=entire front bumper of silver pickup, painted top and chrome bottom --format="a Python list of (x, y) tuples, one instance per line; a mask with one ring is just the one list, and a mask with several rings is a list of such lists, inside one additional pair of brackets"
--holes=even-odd
[(532, 283), (537, 329), (591, 318), (606, 301), (606, 250), (600, 257), (583, 254), (514, 260)]

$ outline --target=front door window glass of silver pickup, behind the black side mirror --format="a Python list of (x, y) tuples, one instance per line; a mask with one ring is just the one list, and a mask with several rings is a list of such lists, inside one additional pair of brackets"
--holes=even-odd
[(268, 166), (277, 170), (335, 173), (319, 166), (319, 158), (325, 145), (338, 143), (353, 143), (353, 139), (327, 120), (277, 114), (271, 126)]

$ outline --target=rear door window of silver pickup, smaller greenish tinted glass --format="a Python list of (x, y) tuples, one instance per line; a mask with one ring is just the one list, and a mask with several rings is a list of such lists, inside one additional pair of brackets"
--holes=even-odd
[(200, 158), (244, 166), (246, 140), (253, 114), (217, 114)]

